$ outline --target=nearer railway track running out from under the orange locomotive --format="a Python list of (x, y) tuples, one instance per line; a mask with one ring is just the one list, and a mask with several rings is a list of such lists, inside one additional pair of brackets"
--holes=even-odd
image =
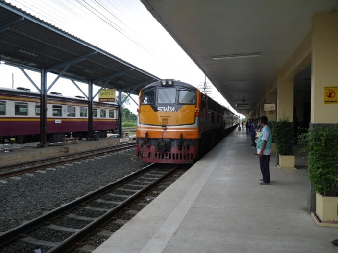
[[(68, 204), (48, 211), (0, 234), (0, 252), (33, 252), (34, 249), (48, 253), (69, 252), (78, 246), (82, 246), (84, 251), (91, 252), (100, 244), (100, 241), (103, 242), (114, 232), (112, 230), (126, 222), (126, 216), (132, 217), (137, 212), (128, 210), (126, 207), (132, 204), (140, 206), (140, 202), (135, 202), (140, 198), (144, 198), (141, 200), (141, 206), (145, 206), (154, 198), (154, 195), (159, 194), (158, 189), (152, 193), (149, 193), (149, 190), (175, 171), (177, 166), (174, 165), (151, 164)], [(186, 168), (179, 171), (171, 181), (183, 174)], [(160, 188), (163, 190), (165, 187)], [(144, 194), (150, 197), (144, 197)], [(109, 222), (114, 225), (108, 224), (102, 228)], [(107, 227), (115, 229), (106, 229)], [(91, 236), (93, 234), (94, 237), (100, 238), (94, 239), (94, 245)], [(88, 237), (90, 238), (87, 239)], [(85, 243), (81, 243), (86, 239)]]

